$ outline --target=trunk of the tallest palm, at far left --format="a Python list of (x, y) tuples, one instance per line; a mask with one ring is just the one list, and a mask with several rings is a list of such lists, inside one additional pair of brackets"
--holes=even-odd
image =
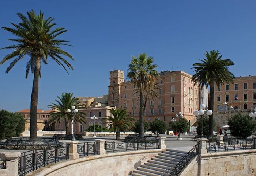
[(41, 58), (35, 58), (34, 80), (30, 102), (30, 140), (37, 140), (37, 104), (38, 104), (38, 82), (41, 67)]

